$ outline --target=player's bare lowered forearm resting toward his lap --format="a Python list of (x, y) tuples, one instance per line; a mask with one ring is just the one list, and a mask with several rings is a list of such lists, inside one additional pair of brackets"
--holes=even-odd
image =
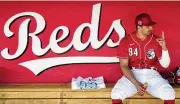
[(124, 74), (124, 76), (129, 79), (135, 86), (137, 85), (137, 80), (136, 78), (134, 77), (134, 74), (130, 71), (129, 67), (128, 66), (122, 66), (121, 65), (121, 70)]

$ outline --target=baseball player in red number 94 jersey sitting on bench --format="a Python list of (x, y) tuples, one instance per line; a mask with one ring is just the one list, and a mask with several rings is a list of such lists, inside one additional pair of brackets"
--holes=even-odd
[(164, 100), (164, 104), (174, 104), (174, 89), (156, 70), (158, 62), (164, 68), (170, 64), (164, 32), (161, 38), (152, 33), (156, 22), (147, 13), (137, 15), (135, 24), (136, 31), (123, 38), (118, 48), (124, 75), (111, 91), (112, 104), (123, 104), (125, 98), (136, 93), (142, 96), (145, 91)]

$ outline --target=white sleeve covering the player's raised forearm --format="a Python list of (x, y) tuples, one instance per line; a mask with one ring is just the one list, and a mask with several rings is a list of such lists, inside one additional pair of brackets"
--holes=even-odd
[(166, 51), (162, 50), (162, 56), (161, 56), (161, 59), (159, 60), (159, 63), (164, 68), (167, 68), (169, 66), (169, 64), (170, 64), (170, 57), (169, 57), (168, 50), (166, 50)]

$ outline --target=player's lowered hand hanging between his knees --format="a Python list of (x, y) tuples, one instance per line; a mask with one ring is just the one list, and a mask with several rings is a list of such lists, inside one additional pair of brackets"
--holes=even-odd
[(146, 92), (146, 88), (144, 87), (144, 85), (141, 84), (140, 82), (137, 82), (135, 86), (136, 86), (138, 95), (143, 96), (144, 93)]

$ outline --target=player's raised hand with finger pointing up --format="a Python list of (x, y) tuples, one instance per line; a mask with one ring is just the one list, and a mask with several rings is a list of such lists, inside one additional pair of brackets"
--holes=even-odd
[(165, 37), (164, 37), (164, 31), (162, 31), (161, 38), (157, 38), (156, 41), (159, 43), (159, 45), (162, 47), (163, 50), (167, 50), (166, 40), (165, 40)]

